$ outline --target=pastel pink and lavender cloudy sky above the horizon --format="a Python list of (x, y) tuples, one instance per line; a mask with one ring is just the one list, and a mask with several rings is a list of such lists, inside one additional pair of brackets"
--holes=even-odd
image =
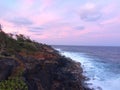
[(7, 33), (50, 45), (120, 46), (120, 0), (0, 0)]

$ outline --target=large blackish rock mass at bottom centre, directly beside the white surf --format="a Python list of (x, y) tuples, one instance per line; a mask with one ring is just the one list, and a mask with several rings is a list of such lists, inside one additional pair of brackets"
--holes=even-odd
[(26, 70), (24, 77), (29, 89), (38, 86), (35, 90), (83, 90), (79, 63), (63, 57), (51, 61), (53, 63), (41, 61)]

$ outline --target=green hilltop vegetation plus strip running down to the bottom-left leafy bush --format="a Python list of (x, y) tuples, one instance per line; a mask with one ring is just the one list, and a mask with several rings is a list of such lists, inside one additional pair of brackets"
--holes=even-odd
[(15, 57), (15, 54), (22, 51), (36, 51), (35, 42), (22, 34), (16, 35), (15, 39), (13, 34), (6, 34), (2, 30), (0, 31), (0, 42), (0, 57), (9, 56), (9, 58), (13, 58), (20, 64), (13, 70), (7, 80), (0, 81), (0, 90), (28, 90), (28, 86), (22, 77), (24, 72), (23, 63)]

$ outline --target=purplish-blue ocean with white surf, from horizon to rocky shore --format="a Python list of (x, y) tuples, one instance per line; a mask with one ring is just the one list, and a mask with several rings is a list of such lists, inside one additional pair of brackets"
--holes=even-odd
[(80, 62), (86, 81), (95, 90), (120, 90), (120, 47), (53, 46)]

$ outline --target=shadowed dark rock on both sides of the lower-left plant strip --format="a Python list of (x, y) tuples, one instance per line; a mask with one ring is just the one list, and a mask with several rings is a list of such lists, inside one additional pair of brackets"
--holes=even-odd
[[(25, 65), (23, 77), (29, 90), (84, 90), (80, 63), (62, 56), (45, 60), (18, 58)], [(0, 59), (0, 81), (8, 79), (18, 66), (14, 59)]]

